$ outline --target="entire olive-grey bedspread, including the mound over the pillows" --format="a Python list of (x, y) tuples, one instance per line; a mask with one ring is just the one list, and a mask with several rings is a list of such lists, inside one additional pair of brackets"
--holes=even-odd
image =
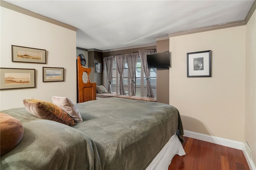
[(1, 156), (1, 170), (142, 170), (172, 135), (183, 142), (180, 115), (170, 105), (111, 97), (76, 107), (83, 122), (73, 127), (25, 108), (2, 111), (21, 121), (24, 136)]

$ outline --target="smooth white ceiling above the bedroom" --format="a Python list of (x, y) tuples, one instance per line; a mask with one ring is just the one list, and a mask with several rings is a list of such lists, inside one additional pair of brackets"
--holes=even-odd
[(254, 0), (5, 0), (77, 28), (76, 46), (116, 49), (244, 20)]

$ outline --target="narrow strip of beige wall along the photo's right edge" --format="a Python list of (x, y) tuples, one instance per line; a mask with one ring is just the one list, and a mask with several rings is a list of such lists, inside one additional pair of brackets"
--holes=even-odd
[(256, 12), (246, 24), (245, 39), (245, 128), (244, 140), (252, 150), (256, 165)]

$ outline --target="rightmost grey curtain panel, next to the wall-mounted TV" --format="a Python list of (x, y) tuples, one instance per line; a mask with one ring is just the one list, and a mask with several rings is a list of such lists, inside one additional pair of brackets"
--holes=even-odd
[(144, 69), (144, 74), (146, 76), (146, 84), (147, 84), (147, 97), (154, 97), (151, 85), (150, 85), (150, 69), (148, 69), (147, 55), (154, 54), (155, 50), (140, 50), (140, 60), (142, 67)]

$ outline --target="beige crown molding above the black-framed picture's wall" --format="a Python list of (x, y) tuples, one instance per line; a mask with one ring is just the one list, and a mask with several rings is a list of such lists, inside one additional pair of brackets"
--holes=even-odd
[(244, 25), (246, 25), (245, 21), (236, 21), (236, 22), (230, 22), (227, 24), (219, 24), (219, 25), (215, 25), (215, 26), (196, 28), (196, 29), (186, 30), (186, 31), (181, 31), (181, 32), (174, 32), (174, 33), (170, 33), (168, 35), (169, 35), (169, 37), (176, 37), (176, 36), (183, 36), (183, 35), (187, 35), (187, 34), (213, 31), (213, 30), (219, 30), (219, 29), (236, 27), (236, 26), (244, 26)]

